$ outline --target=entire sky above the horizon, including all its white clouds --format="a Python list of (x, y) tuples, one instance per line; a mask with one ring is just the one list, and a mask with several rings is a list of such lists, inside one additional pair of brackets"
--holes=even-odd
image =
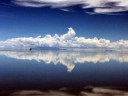
[[(19, 46), (128, 48), (127, 40), (127, 0), (0, 1), (2, 48)], [(29, 44), (26, 45), (27, 43)], [(69, 44), (71, 46), (68, 46)]]

